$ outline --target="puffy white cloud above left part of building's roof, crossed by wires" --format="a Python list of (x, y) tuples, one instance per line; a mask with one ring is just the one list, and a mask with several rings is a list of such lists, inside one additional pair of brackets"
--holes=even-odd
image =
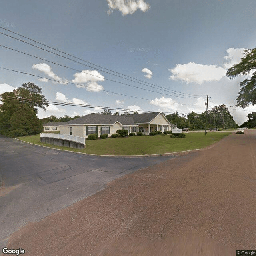
[(74, 77), (73, 83), (85, 85), (76, 85), (78, 88), (86, 88), (88, 92), (100, 92), (100, 90), (103, 90), (103, 86), (98, 82), (103, 82), (105, 79), (97, 70), (82, 70), (82, 72), (75, 73)]

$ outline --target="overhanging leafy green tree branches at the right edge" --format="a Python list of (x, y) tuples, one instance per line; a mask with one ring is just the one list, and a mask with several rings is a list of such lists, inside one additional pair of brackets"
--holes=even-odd
[(241, 59), (240, 63), (232, 66), (228, 69), (227, 76), (230, 79), (235, 78), (239, 75), (248, 75), (249, 72), (253, 72), (251, 78), (246, 78), (240, 82), (240, 92), (238, 93), (238, 98), (236, 99), (237, 106), (245, 108), (252, 103), (256, 104), (256, 48), (244, 51), (244, 57)]

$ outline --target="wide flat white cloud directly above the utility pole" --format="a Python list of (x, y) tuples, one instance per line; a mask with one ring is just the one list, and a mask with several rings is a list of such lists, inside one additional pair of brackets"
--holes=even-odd
[(226, 70), (222, 67), (196, 64), (194, 62), (178, 64), (175, 68), (168, 70), (173, 74), (169, 79), (181, 80), (186, 83), (202, 84), (204, 82), (219, 81), (223, 76), (226, 76)]

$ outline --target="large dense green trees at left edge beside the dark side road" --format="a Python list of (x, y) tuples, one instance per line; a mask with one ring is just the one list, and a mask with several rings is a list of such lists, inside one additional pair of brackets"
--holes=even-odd
[(6, 136), (37, 134), (42, 129), (38, 108), (48, 106), (42, 89), (33, 83), (22, 84), (13, 92), (0, 94), (0, 133)]

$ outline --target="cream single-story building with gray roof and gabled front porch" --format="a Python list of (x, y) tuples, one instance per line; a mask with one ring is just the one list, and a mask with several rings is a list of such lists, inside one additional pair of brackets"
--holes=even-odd
[(88, 114), (60, 124), (61, 134), (70, 134), (87, 138), (90, 134), (116, 133), (116, 130), (126, 129), (130, 132), (142, 132), (149, 135), (153, 131), (170, 131), (177, 128), (170, 124), (162, 112), (114, 116), (105, 114)]

